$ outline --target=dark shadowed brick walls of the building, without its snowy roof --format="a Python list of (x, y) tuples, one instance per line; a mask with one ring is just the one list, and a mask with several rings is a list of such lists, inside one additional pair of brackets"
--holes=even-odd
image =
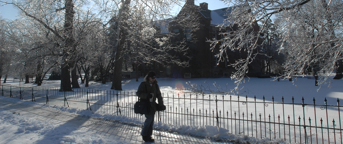
[[(203, 8), (208, 7), (207, 3), (201, 3), (200, 6)], [(202, 13), (199, 12), (199, 6), (194, 5), (194, 0), (187, 0), (184, 7), (181, 9), (176, 20), (181, 17), (186, 17), (187, 13), (191, 13), (196, 16), (199, 22), (199, 29), (197, 31), (192, 31), (192, 40), (189, 41), (189, 49), (192, 53), (192, 59), (190, 60), (190, 66), (187, 68), (181, 67), (172, 67), (165, 69), (165, 75), (169, 77), (183, 78), (185, 73), (191, 73), (192, 78), (196, 77), (230, 77), (235, 69), (233, 67), (227, 67), (230, 63), (234, 63), (236, 59), (244, 57), (244, 52), (228, 52), (228, 59), (225, 59), (224, 62), (219, 62), (216, 65), (215, 61), (217, 60), (214, 55), (216, 50), (211, 50), (211, 45), (207, 42), (208, 39), (214, 37), (214, 30), (216, 31), (217, 39), (221, 38), (219, 34), (223, 29), (219, 29), (215, 25), (211, 25), (211, 18), (205, 17)], [(208, 11), (203, 11), (205, 14)], [(208, 13), (207, 13), (208, 14)], [(174, 21), (169, 22), (169, 33), (173, 33), (175, 29), (179, 29), (177, 32), (179, 35), (184, 35), (184, 27), (177, 25)], [(227, 28), (228, 29), (228, 28)], [(226, 29), (226, 30), (227, 30)], [(254, 26), (254, 31), (258, 31), (259, 27), (256, 24)], [(231, 29), (230, 29), (231, 30)], [(232, 30), (231, 30), (232, 31)], [(228, 50), (229, 51), (229, 50)], [(257, 68), (258, 69), (258, 68)], [(252, 70), (252, 69), (251, 69)], [(256, 70), (254, 70), (256, 71)]]

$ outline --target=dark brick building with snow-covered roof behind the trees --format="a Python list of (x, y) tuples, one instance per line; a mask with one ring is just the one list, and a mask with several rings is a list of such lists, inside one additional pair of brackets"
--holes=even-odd
[[(188, 53), (191, 56), (190, 66), (187, 68), (174, 66), (169, 69), (162, 69), (158, 68), (155, 63), (151, 63), (145, 66), (144, 71), (157, 71), (158, 69), (161, 71), (161, 76), (175, 78), (230, 77), (235, 69), (227, 65), (244, 57), (244, 53), (226, 53), (228, 59), (218, 63), (218, 59), (215, 57), (218, 50), (211, 50), (208, 40), (213, 38), (221, 39), (224, 35), (220, 33), (235, 31), (235, 29), (230, 29), (229, 27), (225, 29), (217, 27), (219, 24), (223, 24), (223, 21), (227, 19), (227, 13), (230, 13), (232, 9), (233, 7), (209, 10), (208, 3), (203, 2), (198, 6), (194, 4), (194, 0), (187, 0), (175, 19), (164, 20), (165, 24), (159, 26), (159, 36), (163, 37), (166, 34), (174, 33), (176, 35), (174, 38), (175, 42), (180, 39), (187, 40), (187, 45), (189, 46)], [(192, 29), (192, 27), (187, 27), (187, 24), (180, 25), (180, 21), (178, 21), (179, 19), (187, 19), (190, 16), (192, 18), (196, 17), (196, 21), (199, 23), (196, 30)], [(253, 31), (259, 31), (258, 24), (256, 23), (254, 26)], [(249, 71), (260, 72), (261, 69), (258, 65), (261, 64), (255, 64), (256, 68), (249, 67)]]

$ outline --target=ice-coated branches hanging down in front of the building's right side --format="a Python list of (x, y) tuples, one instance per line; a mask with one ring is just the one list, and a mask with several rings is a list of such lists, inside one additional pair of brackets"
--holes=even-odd
[[(254, 51), (258, 53), (259, 39), (266, 23), (263, 23), (259, 29), (255, 25), (262, 20), (266, 22), (272, 16), (276, 16), (278, 20), (275, 23), (279, 24), (284, 32), (282, 39), (284, 45), (281, 45), (281, 49), (286, 47), (301, 49), (301, 51), (298, 51), (296, 59), (287, 61), (287, 64), (285, 64), (286, 71), (283, 76), (289, 78), (295, 74), (302, 74), (304, 68), (307, 67), (306, 65), (318, 63), (323, 58), (325, 62), (320, 62), (322, 64), (320, 64), (319, 68), (325, 69), (330, 73), (337, 68), (336, 62), (342, 60), (342, 1), (225, 1), (228, 5), (233, 5), (233, 9), (231, 13), (228, 13), (229, 18), (224, 21), (221, 27), (231, 27), (234, 31), (226, 33), (226, 36), (221, 40), (212, 41), (212, 46), (214, 47), (217, 45), (217, 42), (223, 41), (223, 45), (219, 46), (221, 53), (218, 54), (218, 57), (225, 56), (223, 54), (227, 50), (247, 52), (245, 59), (239, 59), (231, 64), (231, 66), (236, 68), (236, 72), (232, 76), (232, 79), (237, 84), (236, 90), (238, 90), (238, 85), (245, 81), (244, 76), (248, 72), (248, 64), (257, 56)], [(317, 19), (310, 20), (308, 16), (310, 13), (306, 14), (306, 11), (316, 12), (318, 14), (316, 15)], [(307, 26), (304, 27), (305, 25)], [(294, 31), (294, 28), (300, 27), (304, 29), (303, 34), (314, 32), (312, 34), (315, 37), (306, 39), (309, 35), (295, 33), (297, 31)], [(310, 27), (313, 28), (313, 31)], [(297, 42), (293, 41), (296, 40), (295, 38), (298, 38)], [(287, 46), (285, 45), (286, 43), (288, 44)], [(314, 55), (315, 51), (320, 47), (326, 47), (326, 49), (318, 52), (318, 55)]]

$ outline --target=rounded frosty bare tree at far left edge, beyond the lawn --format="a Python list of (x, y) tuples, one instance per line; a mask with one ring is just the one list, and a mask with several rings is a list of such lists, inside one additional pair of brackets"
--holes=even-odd
[(45, 74), (57, 64), (54, 44), (47, 33), (31, 21), (17, 19), (8, 23), (8, 27), (8, 41), (12, 41), (8, 47), (15, 49), (15, 57), (11, 61), (15, 71), (12, 74), (20, 78), (25, 75), (25, 83), (28, 83), (29, 74), (35, 74), (35, 83), (41, 85)]

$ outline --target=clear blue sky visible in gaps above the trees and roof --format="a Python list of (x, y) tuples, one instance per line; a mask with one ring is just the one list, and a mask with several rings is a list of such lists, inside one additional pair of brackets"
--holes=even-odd
[[(195, 0), (195, 4), (199, 5), (199, 3), (206, 2), (209, 4), (209, 10), (216, 10), (227, 7), (227, 5), (221, 0)], [(2, 3), (0, 3), (2, 4)], [(4, 19), (16, 19), (16, 15), (18, 15), (18, 10), (14, 9), (12, 5), (4, 5), (0, 7), (0, 14)]]

